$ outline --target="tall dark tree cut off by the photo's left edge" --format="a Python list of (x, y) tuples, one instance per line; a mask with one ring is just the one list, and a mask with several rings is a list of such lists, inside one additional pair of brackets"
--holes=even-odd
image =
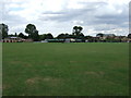
[(2, 34), (2, 39), (8, 37), (8, 32), (9, 32), (8, 25), (5, 25), (3, 23), (0, 24), (0, 34)]

